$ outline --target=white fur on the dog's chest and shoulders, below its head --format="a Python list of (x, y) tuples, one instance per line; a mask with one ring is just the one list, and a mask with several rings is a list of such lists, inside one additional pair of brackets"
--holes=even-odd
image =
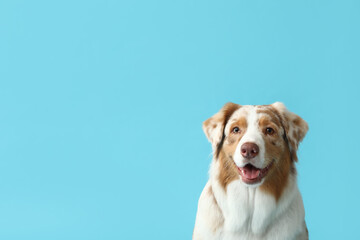
[[(304, 207), (295, 178), (290, 179), (276, 202), (272, 195), (248, 187), (240, 179), (231, 182), (225, 193), (218, 182), (217, 165), (212, 162), (209, 182), (199, 199), (194, 240), (306, 239)], [(220, 213), (211, 211), (214, 203), (208, 192), (210, 186)], [(208, 224), (213, 221), (211, 218), (219, 217), (221, 213), (224, 224), (213, 232)]]

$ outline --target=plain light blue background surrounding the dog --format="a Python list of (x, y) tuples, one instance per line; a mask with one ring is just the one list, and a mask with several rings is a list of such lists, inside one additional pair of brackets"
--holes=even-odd
[(227, 101), (310, 131), (311, 239), (360, 239), (359, 1), (0, 2), (0, 239), (190, 239)]

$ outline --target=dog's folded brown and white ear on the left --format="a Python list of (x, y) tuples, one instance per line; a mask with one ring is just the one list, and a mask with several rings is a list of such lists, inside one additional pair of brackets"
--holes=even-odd
[(218, 113), (203, 122), (203, 130), (210, 141), (213, 151), (217, 149), (223, 139), (224, 127), (234, 111), (241, 106), (235, 103), (226, 103)]

